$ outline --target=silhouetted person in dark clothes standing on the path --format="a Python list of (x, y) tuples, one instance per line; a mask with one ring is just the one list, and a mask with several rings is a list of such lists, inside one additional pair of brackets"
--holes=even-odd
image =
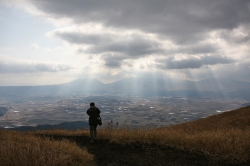
[(100, 117), (100, 113), (101, 111), (95, 106), (95, 103), (91, 102), (90, 108), (87, 110), (91, 143), (94, 143), (96, 139), (97, 117)]

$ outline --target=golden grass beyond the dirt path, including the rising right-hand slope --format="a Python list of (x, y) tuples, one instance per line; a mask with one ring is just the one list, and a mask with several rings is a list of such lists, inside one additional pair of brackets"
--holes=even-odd
[[(36, 134), (89, 136), (89, 131), (47, 130)], [(132, 131), (101, 129), (98, 138), (119, 144), (156, 143), (246, 161), (250, 160), (250, 107), (172, 127)]]

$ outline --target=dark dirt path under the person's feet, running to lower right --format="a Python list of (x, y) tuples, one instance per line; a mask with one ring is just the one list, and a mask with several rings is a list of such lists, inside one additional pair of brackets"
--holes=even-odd
[(121, 145), (108, 140), (90, 143), (89, 137), (58, 137), (86, 147), (98, 166), (168, 166), (168, 165), (249, 165), (236, 160), (211, 158), (202, 152), (187, 152), (172, 147), (133, 143)]

